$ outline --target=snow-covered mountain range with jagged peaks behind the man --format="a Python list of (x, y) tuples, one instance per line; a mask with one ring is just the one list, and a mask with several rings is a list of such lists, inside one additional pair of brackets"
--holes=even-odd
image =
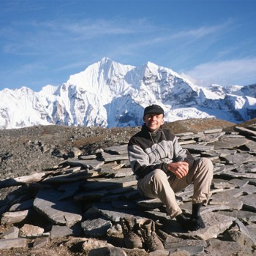
[(61, 86), (4, 89), (0, 98), (0, 129), (138, 126), (143, 108), (153, 103), (164, 108), (165, 121), (216, 117), (239, 123), (256, 117), (256, 84), (203, 88), (151, 62), (132, 67), (107, 58)]

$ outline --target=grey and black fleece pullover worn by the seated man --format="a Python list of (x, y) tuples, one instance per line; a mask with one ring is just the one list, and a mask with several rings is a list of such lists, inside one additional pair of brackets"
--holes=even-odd
[[(195, 158), (178, 143), (178, 138), (170, 130), (160, 127), (150, 132), (146, 124), (140, 132), (132, 136), (128, 143), (129, 162), (137, 179), (143, 178), (152, 170), (161, 169), (168, 175), (167, 163), (184, 161), (189, 169)], [(174, 174), (173, 174), (174, 175)]]

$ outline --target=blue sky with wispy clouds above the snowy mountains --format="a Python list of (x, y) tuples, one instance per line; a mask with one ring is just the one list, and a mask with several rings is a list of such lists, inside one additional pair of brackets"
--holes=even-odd
[(59, 86), (103, 57), (256, 83), (255, 0), (0, 0), (0, 23), (0, 90)]

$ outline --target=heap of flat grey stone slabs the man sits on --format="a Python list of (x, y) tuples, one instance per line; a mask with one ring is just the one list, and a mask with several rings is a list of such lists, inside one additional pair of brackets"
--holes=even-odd
[[(143, 249), (122, 242), (120, 220), (133, 216), (155, 222), (165, 246), (158, 255), (256, 255), (256, 124), (235, 131), (176, 134), (195, 158), (214, 163), (211, 200), (201, 210), (205, 228), (186, 232), (159, 200), (141, 197), (127, 145), (121, 145), (88, 156), (77, 150), (51, 170), (0, 181), (1, 188), (18, 187), (0, 205), (0, 249), (41, 247), (65, 237), (69, 245), (95, 251), (91, 255), (106, 248), (108, 255), (139, 253)], [(192, 191), (189, 185), (176, 194), (184, 214), (191, 212)]]

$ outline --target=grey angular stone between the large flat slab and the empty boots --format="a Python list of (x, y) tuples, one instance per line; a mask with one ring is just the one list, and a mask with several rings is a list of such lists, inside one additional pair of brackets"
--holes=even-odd
[(112, 226), (110, 220), (98, 218), (98, 219), (88, 219), (81, 223), (83, 232), (86, 236), (105, 236), (107, 230)]

